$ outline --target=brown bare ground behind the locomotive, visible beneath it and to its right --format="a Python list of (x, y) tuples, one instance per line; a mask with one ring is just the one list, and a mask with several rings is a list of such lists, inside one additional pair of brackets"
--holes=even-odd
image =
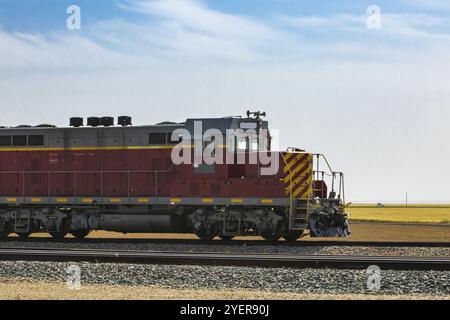
[[(450, 225), (447, 224), (406, 224), (385, 222), (350, 222), (352, 236), (348, 238), (310, 238), (300, 241), (339, 240), (339, 241), (435, 241), (450, 242)], [(15, 234), (11, 234), (15, 237)], [(33, 237), (48, 237), (47, 233), (33, 234)], [(71, 236), (68, 236), (71, 237)], [(93, 231), (88, 238), (147, 238), (147, 239), (198, 239), (193, 234), (157, 234)], [(237, 237), (235, 239), (262, 240), (261, 237)], [(219, 240), (218, 240), (219, 241)]]

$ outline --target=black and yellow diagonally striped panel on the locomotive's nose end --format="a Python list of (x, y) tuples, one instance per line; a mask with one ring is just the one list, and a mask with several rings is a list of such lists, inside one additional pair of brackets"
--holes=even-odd
[(293, 198), (312, 196), (313, 156), (310, 153), (284, 152), (284, 193)]

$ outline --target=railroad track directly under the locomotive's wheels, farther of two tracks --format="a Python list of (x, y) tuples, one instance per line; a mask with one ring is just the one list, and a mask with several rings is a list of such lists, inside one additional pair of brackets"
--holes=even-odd
[(24, 243), (90, 243), (90, 244), (184, 244), (184, 245), (227, 245), (227, 246), (291, 246), (291, 247), (325, 247), (325, 246), (350, 246), (350, 247), (439, 247), (449, 248), (449, 242), (399, 242), (399, 241), (352, 241), (352, 240), (299, 240), (295, 242), (277, 241), (267, 242), (263, 240), (197, 240), (197, 239), (148, 239), (148, 238), (65, 238), (56, 240), (51, 237), (30, 237), (19, 239), (8, 237), (1, 242), (24, 242)]

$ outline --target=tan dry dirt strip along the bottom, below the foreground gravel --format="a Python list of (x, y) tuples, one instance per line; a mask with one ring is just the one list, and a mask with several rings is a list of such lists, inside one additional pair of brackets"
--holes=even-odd
[(444, 299), (450, 296), (431, 295), (337, 295), (337, 294), (298, 294), (257, 290), (205, 290), (205, 289), (170, 289), (163, 287), (136, 287), (113, 285), (82, 285), (79, 290), (70, 290), (65, 283), (25, 282), (0, 278), (0, 299), (14, 300), (48, 300), (48, 299), (122, 299), (122, 300), (222, 300), (222, 299), (274, 299), (274, 300), (338, 300), (338, 299)]

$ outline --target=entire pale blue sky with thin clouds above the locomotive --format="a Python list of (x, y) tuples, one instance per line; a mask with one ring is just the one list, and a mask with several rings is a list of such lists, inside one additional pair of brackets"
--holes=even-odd
[(352, 201), (450, 202), (449, 56), (447, 0), (0, 0), (0, 125), (260, 108)]

